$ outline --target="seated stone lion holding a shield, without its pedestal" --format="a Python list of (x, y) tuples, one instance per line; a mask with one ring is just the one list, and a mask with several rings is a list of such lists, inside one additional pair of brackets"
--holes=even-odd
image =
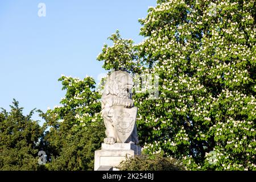
[(131, 99), (133, 86), (133, 78), (124, 71), (115, 71), (106, 80), (101, 98), (106, 144), (138, 143), (137, 107)]

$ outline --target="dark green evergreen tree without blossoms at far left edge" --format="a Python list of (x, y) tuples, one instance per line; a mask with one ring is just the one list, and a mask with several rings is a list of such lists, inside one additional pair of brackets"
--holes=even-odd
[(0, 113), (0, 170), (37, 170), (39, 139), (43, 128), (31, 116), (23, 115), (19, 102), (13, 102), (11, 112)]

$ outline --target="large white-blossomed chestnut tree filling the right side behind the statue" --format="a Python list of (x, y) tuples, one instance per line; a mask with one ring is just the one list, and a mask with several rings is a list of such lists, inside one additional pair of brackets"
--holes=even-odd
[(113, 34), (106, 69), (159, 75), (159, 97), (135, 93), (146, 154), (188, 169), (256, 169), (256, 3), (159, 0), (142, 24), (145, 40)]

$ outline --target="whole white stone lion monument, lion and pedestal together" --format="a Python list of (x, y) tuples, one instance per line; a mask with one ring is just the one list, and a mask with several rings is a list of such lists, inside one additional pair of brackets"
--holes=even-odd
[(101, 150), (94, 152), (94, 170), (117, 170), (127, 158), (141, 155), (137, 137), (137, 107), (131, 100), (133, 78), (124, 71), (113, 72), (101, 97), (106, 138)]

